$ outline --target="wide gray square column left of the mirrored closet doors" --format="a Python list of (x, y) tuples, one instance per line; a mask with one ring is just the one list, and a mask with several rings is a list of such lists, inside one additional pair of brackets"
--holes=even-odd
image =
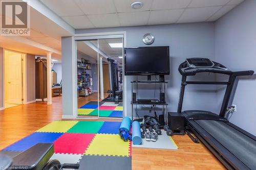
[(61, 37), (62, 118), (77, 116), (77, 59), (74, 37)]

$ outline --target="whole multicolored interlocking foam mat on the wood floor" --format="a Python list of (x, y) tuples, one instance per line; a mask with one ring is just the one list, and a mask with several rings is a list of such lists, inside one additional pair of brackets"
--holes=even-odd
[(130, 170), (131, 142), (118, 135), (121, 122), (54, 121), (0, 151), (15, 155), (36, 143), (53, 143), (60, 163), (79, 163), (79, 169)]

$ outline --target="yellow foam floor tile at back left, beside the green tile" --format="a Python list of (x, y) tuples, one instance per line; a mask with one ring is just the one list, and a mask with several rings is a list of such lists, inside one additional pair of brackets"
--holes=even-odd
[(53, 121), (52, 123), (42, 127), (36, 132), (65, 133), (77, 123), (78, 121)]

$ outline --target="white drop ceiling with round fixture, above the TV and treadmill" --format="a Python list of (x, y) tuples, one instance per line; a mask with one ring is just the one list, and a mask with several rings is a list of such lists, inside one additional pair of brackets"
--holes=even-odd
[[(75, 29), (216, 21), (244, 0), (40, 0)], [(139, 1), (139, 0), (138, 0)]]

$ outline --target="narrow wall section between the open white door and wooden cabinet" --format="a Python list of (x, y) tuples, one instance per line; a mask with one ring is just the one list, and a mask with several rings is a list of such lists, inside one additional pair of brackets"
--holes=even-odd
[(27, 54), (27, 102), (35, 101), (35, 55)]

